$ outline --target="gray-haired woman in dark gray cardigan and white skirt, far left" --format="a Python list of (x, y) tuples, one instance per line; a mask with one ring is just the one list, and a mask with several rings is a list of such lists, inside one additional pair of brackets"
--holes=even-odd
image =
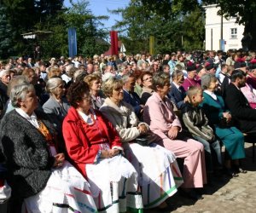
[[(38, 99), (31, 84), (10, 91), (15, 110), (0, 125), (0, 146), (12, 188), (10, 212), (95, 212), (88, 182), (59, 153), (55, 129), (48, 116), (36, 110)], [(94, 211), (89, 211), (94, 210)]]

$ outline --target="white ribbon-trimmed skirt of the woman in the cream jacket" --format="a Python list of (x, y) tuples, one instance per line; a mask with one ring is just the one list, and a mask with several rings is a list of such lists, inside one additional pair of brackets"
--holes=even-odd
[(151, 143), (148, 147), (143, 147), (137, 143), (127, 143), (125, 158), (139, 174), (145, 209), (154, 208), (164, 202), (183, 183), (175, 155), (160, 145)]

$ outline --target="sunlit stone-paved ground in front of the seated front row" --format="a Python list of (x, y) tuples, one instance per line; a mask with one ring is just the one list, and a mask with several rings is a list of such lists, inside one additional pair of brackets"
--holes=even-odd
[[(213, 181), (213, 187), (207, 187), (209, 194), (203, 195), (204, 199), (193, 202), (184, 199), (178, 194), (168, 199), (168, 203), (174, 204), (172, 212), (256, 212), (256, 162), (252, 162), (252, 144), (246, 143), (247, 158), (242, 162), (246, 174), (239, 174), (238, 177), (224, 177), (222, 181)], [(255, 150), (256, 152), (256, 150)], [(146, 213), (154, 213), (155, 210), (148, 210)]]

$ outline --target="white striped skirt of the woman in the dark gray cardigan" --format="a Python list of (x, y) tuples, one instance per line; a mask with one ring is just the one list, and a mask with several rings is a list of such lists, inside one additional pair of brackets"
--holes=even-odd
[(97, 209), (88, 181), (65, 161), (60, 169), (52, 171), (44, 190), (24, 200), (22, 212), (91, 213)]

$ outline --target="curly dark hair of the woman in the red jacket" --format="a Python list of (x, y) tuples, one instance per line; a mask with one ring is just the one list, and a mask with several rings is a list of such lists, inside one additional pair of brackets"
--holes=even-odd
[(90, 93), (90, 88), (87, 83), (84, 81), (78, 81), (72, 83), (70, 87), (67, 89), (67, 100), (69, 101), (72, 107), (77, 108), (78, 101), (82, 101), (83, 95)]

